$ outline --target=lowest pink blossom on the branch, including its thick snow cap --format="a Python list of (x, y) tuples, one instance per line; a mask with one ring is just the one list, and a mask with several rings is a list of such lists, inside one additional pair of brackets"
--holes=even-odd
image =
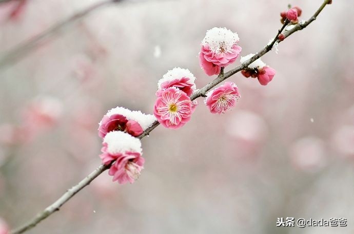
[(139, 178), (145, 162), (139, 139), (120, 131), (109, 132), (103, 140), (101, 151), (103, 164), (108, 165), (116, 160), (108, 171), (113, 181), (125, 184)]

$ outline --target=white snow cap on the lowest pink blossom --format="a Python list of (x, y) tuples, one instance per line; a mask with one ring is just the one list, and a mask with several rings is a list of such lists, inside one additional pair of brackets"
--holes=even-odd
[(103, 142), (107, 143), (107, 152), (109, 154), (124, 153), (126, 151), (143, 153), (140, 140), (125, 132), (109, 132)]

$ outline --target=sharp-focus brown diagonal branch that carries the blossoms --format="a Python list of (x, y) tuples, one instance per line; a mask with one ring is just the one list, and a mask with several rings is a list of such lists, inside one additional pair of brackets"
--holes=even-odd
[[(323, 2), (323, 4), (321, 5), (321, 7), (316, 11), (316, 13), (314, 13), (314, 15), (307, 20), (304, 24), (297, 24), (294, 28), (292, 28), (289, 31), (285, 32), (285, 38), (290, 36), (292, 33), (302, 30), (303, 28), (305, 28), (306, 26), (308, 26), (313, 20), (316, 19), (316, 17), (320, 14), (320, 12), (323, 10), (323, 8), (329, 3), (330, 0), (325, 0)], [(110, 1), (109, 1), (110, 2)], [(114, 2), (114, 1), (113, 1)], [(278, 31), (277, 36), (274, 38), (274, 40), (271, 42), (271, 44), (266, 45), (261, 51), (259, 51), (258, 53), (256, 53), (254, 56), (252, 56), (250, 59), (248, 59), (247, 61), (245, 61), (244, 63), (242, 63), (240, 66), (228, 71), (227, 73), (223, 73), (221, 72), (219, 74), (219, 76), (217, 78), (215, 78), (214, 80), (212, 80), (211, 82), (209, 82), (206, 86), (204, 86), (202, 89), (195, 91), (192, 95), (191, 95), (191, 100), (195, 100), (196, 98), (205, 96), (206, 93), (212, 89), (213, 87), (217, 86), (217, 84), (219, 84), (220, 82), (224, 81), (225, 79), (229, 78), (230, 76), (240, 72), (241, 70), (245, 69), (248, 67), (248, 65), (250, 65), (250, 63), (252, 63), (253, 61), (255, 61), (256, 59), (262, 57), (263, 55), (265, 55), (266, 53), (268, 53), (273, 45), (278, 42), (280, 43), (281, 41), (278, 40), (278, 35), (284, 30), (284, 28), (286, 27), (286, 24), (283, 25), (283, 27)], [(139, 139), (144, 138), (145, 136), (149, 136), (150, 132), (152, 130), (155, 129), (156, 126), (158, 126), (160, 123), (158, 121), (153, 122), (153, 124), (144, 131), (143, 134), (141, 134), (139, 137)], [(111, 162), (111, 164), (113, 164), (114, 162)], [(110, 164), (110, 165), (111, 165)], [(80, 181), (78, 184), (76, 184), (75, 186), (73, 186), (72, 188), (70, 188), (69, 190), (67, 190), (67, 192), (60, 197), (58, 200), (56, 200), (53, 204), (51, 204), (50, 206), (48, 206), (47, 208), (45, 208), (42, 212), (40, 212), (36, 217), (34, 217), (31, 221), (29, 221), (27, 224), (25, 224), (22, 227), (19, 227), (13, 231), (11, 231), (11, 234), (19, 234), (19, 233), (23, 233), (31, 228), (33, 228), (35, 225), (37, 225), (39, 222), (41, 222), (42, 220), (46, 219), (47, 217), (49, 217), (51, 214), (53, 214), (55, 211), (59, 210), (60, 207), (62, 205), (64, 205), (68, 200), (70, 200), (70, 198), (72, 198), (76, 193), (78, 193), (81, 189), (83, 189), (85, 186), (87, 186), (88, 184), (90, 184), (90, 182), (92, 180), (94, 180), (97, 176), (99, 176), (100, 174), (102, 174), (104, 171), (106, 171), (106, 169), (108, 169), (110, 167), (110, 165), (100, 165), (99, 167), (97, 167), (95, 169), (95, 171), (93, 171), (90, 175), (88, 175), (87, 177), (85, 177), (85, 179), (83, 179), (82, 181)]]

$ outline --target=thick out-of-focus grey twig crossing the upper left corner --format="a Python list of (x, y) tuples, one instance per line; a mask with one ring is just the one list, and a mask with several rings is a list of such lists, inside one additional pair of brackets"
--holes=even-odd
[(50, 38), (53, 36), (56, 32), (63, 30), (64, 28), (68, 27), (69, 25), (75, 23), (77, 20), (83, 18), (87, 14), (91, 13), (92, 11), (99, 9), (103, 6), (112, 4), (112, 3), (117, 3), (121, 2), (123, 0), (104, 0), (102, 2), (96, 3), (92, 6), (89, 6), (88, 8), (77, 12), (76, 14), (70, 16), (67, 19), (64, 19), (62, 22), (59, 22), (50, 28), (46, 29), (42, 33), (34, 36), (30, 40), (27, 40), (23, 42), (22, 44), (19, 44), (16, 46), (14, 49), (11, 49), (8, 51), (5, 55), (0, 57), (0, 69), (9, 65), (10, 63), (13, 63), (17, 61), (19, 58), (24, 57), (24, 55), (28, 54), (29, 52), (32, 51), (36, 46), (41, 44), (44, 40)]

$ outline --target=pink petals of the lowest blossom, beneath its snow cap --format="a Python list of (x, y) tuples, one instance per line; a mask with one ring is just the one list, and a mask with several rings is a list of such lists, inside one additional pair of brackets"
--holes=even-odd
[(126, 152), (113, 163), (108, 175), (113, 176), (113, 181), (118, 181), (120, 184), (133, 183), (144, 169), (144, 162), (145, 159), (141, 154)]

